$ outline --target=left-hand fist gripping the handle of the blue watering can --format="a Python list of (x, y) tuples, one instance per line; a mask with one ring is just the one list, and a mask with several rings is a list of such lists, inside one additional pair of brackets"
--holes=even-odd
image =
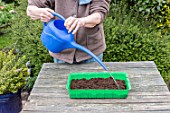
[(51, 12), (54, 12), (53, 10), (49, 8), (39, 8), (40, 10), (40, 19), (42, 22), (49, 22), (54, 16), (51, 14)]

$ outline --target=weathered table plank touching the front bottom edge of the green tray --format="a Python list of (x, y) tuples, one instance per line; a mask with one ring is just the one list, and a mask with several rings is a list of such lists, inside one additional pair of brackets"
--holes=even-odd
[(50, 102), (52, 103), (170, 103), (170, 96), (128, 96), (127, 99), (69, 99), (65, 96), (46, 96), (46, 95), (32, 95), (29, 102)]

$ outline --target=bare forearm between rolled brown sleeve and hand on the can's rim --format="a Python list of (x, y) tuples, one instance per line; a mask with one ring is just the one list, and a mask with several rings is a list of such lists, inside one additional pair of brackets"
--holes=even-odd
[(101, 22), (101, 15), (96, 12), (81, 19), (85, 22), (84, 27), (92, 28)]

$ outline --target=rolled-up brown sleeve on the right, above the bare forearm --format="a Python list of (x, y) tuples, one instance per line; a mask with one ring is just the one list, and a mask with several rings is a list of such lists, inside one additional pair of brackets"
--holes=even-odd
[(92, 0), (90, 4), (90, 14), (98, 12), (101, 15), (101, 22), (109, 12), (109, 3), (111, 0)]

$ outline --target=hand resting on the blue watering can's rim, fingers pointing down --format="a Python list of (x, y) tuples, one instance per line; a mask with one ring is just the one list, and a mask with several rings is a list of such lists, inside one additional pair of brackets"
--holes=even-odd
[(85, 26), (85, 19), (71, 16), (65, 20), (64, 26), (69, 33), (72, 32), (72, 34), (75, 34), (80, 27)]

